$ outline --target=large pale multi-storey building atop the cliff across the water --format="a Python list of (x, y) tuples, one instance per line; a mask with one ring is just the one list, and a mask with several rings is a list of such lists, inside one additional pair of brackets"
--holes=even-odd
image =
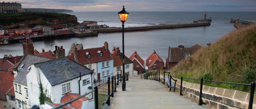
[(17, 2), (0, 2), (0, 13), (20, 13), (22, 5)]

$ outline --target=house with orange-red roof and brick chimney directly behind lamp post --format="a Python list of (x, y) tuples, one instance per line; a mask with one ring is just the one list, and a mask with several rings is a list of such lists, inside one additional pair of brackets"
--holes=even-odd
[[(113, 48), (113, 51), (111, 52), (111, 55), (114, 60), (114, 75), (117, 75), (117, 72), (119, 74), (122, 74), (121, 71), (123, 72), (123, 53), (120, 52), (119, 47)], [(125, 56), (125, 73), (129, 75), (133, 75), (133, 62)]]

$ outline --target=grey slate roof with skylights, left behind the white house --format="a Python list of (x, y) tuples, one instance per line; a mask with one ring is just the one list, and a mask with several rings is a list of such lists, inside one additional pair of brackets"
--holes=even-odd
[[(46, 57), (41, 57), (41, 56), (25, 54), (24, 57), (22, 58), (22, 60), (20, 60), (17, 67), (13, 68), (15, 71), (16, 71), (16, 68), (18, 68), (18, 74), (14, 78), (13, 81), (15, 83), (19, 83), (19, 84), (27, 86), (27, 77), (26, 76), (27, 76), (28, 72), (30, 71), (30, 70), (27, 70), (28, 67), (33, 65), (34, 63), (44, 62), (44, 61), (48, 61), (48, 60), (52, 60), (52, 59), (46, 58)], [(24, 66), (22, 68), (20, 68), (20, 66), (22, 66), (22, 64), (24, 64)]]

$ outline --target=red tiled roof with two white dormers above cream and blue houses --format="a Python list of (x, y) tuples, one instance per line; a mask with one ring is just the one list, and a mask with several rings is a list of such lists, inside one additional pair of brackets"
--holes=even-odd
[[(102, 52), (102, 56), (100, 57), (98, 55), (98, 51)], [(91, 58), (86, 58), (85, 53), (88, 52), (91, 54)], [(104, 47), (99, 48), (91, 48), (91, 49), (83, 49), (83, 50), (77, 50), (77, 60), (82, 65), (88, 64), (88, 63), (96, 63), (96, 62), (102, 62), (107, 60), (112, 60), (112, 56), (110, 55), (109, 50), (106, 51)]]

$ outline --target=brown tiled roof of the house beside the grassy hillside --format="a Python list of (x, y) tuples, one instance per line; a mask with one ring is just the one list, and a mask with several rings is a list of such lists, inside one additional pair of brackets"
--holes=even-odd
[(185, 59), (186, 53), (192, 55), (200, 48), (199, 44), (195, 44), (190, 48), (169, 48), (170, 55), (167, 57), (166, 62), (179, 62)]

